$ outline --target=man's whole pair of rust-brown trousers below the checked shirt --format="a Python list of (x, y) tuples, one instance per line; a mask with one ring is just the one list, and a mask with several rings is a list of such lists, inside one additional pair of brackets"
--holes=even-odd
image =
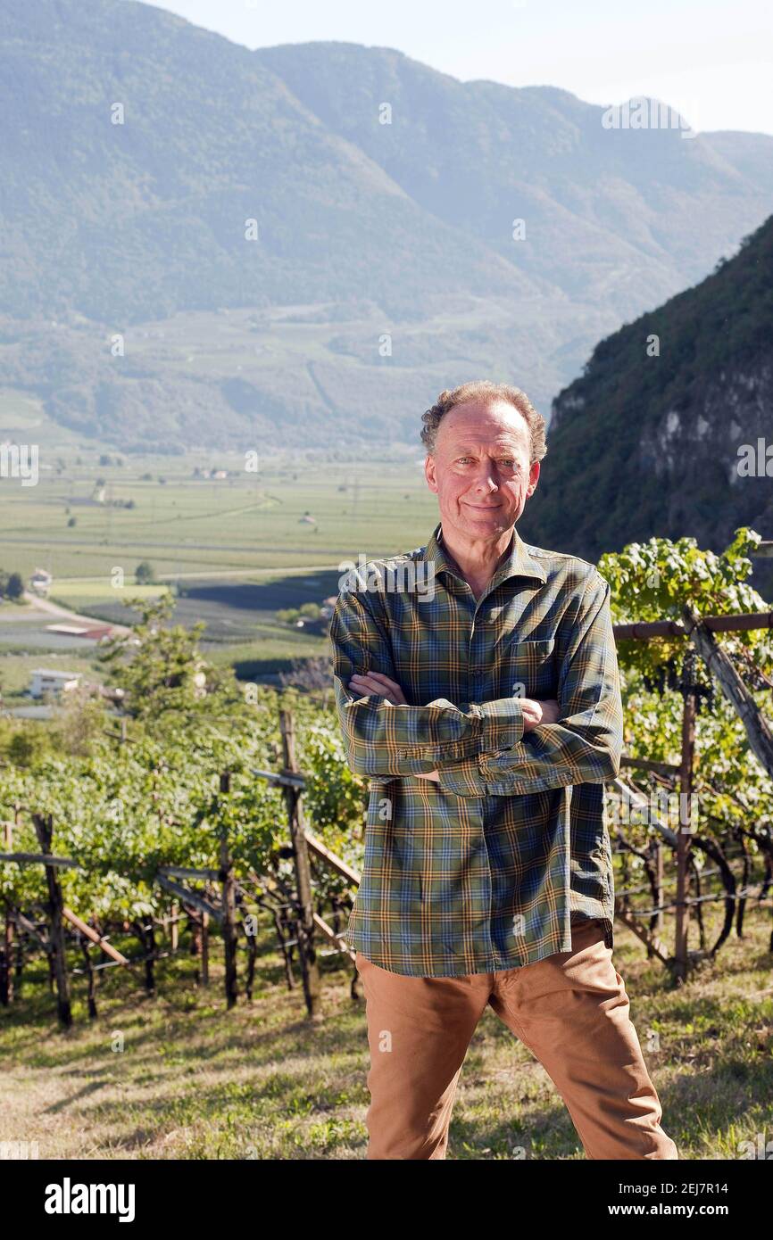
[(551, 1076), (588, 1158), (679, 1158), (601, 921), (573, 924), (571, 951), (520, 968), (406, 977), (361, 952), (356, 966), (371, 1053), (367, 1158), (445, 1158), (462, 1064), (486, 1004)]

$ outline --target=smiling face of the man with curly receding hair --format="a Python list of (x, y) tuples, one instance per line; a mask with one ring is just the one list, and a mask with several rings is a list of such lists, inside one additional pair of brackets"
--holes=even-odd
[(529, 424), (507, 401), (469, 401), (447, 413), (424, 461), (443, 527), (484, 539), (510, 529), (540, 476), (530, 456)]

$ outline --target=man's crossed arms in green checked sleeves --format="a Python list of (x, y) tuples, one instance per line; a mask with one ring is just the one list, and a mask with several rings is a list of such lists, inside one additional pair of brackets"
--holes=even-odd
[[(588, 577), (572, 624), (557, 708), (541, 703), (550, 723), (535, 725), (532, 708), (517, 697), (470, 702), (467, 709), (445, 698), (393, 704), (386, 696), (387, 682), (400, 684), (392, 647), (364, 590), (341, 591), (330, 636), (346, 760), (359, 775), (437, 773), (440, 787), (457, 796), (512, 796), (618, 774), (623, 711), (609, 585), (599, 573)], [(383, 693), (372, 688), (380, 682)]]

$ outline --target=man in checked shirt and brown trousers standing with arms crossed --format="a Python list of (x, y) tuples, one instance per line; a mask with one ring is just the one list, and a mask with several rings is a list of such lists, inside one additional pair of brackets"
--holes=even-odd
[(677, 1158), (612, 963), (609, 585), (515, 529), (546, 453), (522, 392), (467, 383), (423, 422), (440, 521), (427, 547), (351, 573), (331, 620), (346, 756), (371, 780), (346, 929), (366, 994), (367, 1157), (445, 1157), (490, 1004), (588, 1158)]

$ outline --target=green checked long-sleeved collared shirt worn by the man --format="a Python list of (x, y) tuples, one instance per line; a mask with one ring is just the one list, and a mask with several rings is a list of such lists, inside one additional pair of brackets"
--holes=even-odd
[[(604, 780), (623, 706), (598, 569), (514, 528), (476, 600), (438, 523), (427, 547), (350, 570), (330, 634), (346, 759), (370, 780), (349, 945), (412, 977), (571, 951), (577, 918), (612, 947)], [(370, 671), (408, 704), (350, 692)], [(524, 697), (557, 699), (560, 722), (524, 734)], [(436, 769), (439, 784), (414, 777)]]

